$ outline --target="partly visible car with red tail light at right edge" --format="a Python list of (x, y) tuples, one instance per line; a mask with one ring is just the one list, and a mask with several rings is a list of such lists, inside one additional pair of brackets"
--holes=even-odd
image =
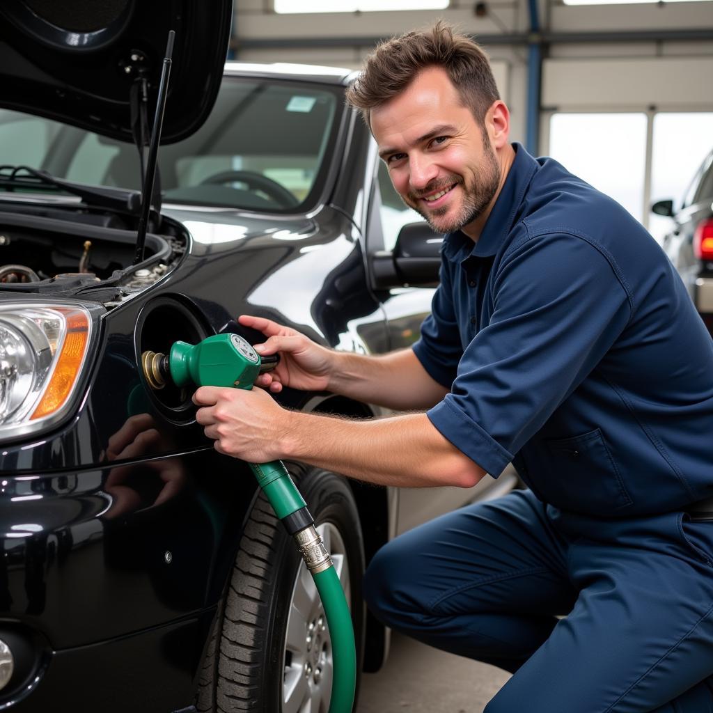
[(664, 237), (664, 250), (713, 336), (713, 150), (676, 208), (673, 200), (660, 200), (651, 210), (674, 220), (673, 230)]

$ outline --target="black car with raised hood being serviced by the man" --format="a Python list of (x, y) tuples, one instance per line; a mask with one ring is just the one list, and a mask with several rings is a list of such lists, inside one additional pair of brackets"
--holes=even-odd
[[(242, 313), (335, 349), (407, 347), (440, 239), (401, 205), (345, 108), (348, 71), (230, 64), (221, 84), (230, 11), (0, 8), (3, 711), (327, 708), (329, 632), (302, 560), (247, 465), (195, 423), (190, 391), (150, 389), (141, 356), (216, 333), (262, 341)], [(170, 29), (165, 145), (142, 202)], [(384, 412), (328, 393), (279, 400)], [(515, 483), (506, 472), (471, 490), (396, 491), (289, 468), (366, 670), (388, 644), (361, 600), (371, 555)]]

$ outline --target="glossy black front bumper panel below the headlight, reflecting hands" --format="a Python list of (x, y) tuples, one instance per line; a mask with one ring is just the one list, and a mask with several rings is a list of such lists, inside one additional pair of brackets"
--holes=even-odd
[[(254, 491), (245, 464), (212, 448), (6, 482), (4, 495), (15, 500), (3, 520), (15, 536), (0, 565), (4, 616), (55, 650), (215, 604), (215, 568), (232, 557), (222, 547), (239, 532)], [(168, 483), (171, 497), (156, 504)]]

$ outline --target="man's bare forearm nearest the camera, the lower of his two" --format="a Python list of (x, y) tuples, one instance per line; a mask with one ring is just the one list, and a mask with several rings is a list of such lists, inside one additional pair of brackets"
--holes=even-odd
[(426, 414), (354, 421), (293, 413), (281, 450), (283, 458), (387, 486), (469, 488), (485, 475)]

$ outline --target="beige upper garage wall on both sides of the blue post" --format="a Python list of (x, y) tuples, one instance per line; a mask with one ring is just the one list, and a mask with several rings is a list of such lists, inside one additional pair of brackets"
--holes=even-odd
[[(296, 2), (299, 0), (295, 0)], [(493, 0), (485, 17), (475, 1), (452, 0), (440, 11), (278, 15), (272, 0), (237, 0), (236, 58), (254, 62), (306, 62), (358, 68), (375, 38), (429, 26), (443, 18), (485, 42), (498, 87), (512, 114), (512, 138), (525, 138), (529, 27), (526, 0)], [(630, 31), (713, 31), (713, 0), (653, 5), (565, 6), (540, 0), (540, 25), (555, 41), (546, 48), (543, 106), (559, 111), (613, 111), (657, 106), (689, 111), (713, 106), (713, 41), (595, 41)], [(564, 42), (567, 34), (586, 41)], [(505, 37), (518, 37), (503, 43)], [(279, 46), (298, 39), (301, 46)], [(607, 38), (608, 39), (608, 38)], [(312, 40), (313, 43), (304, 46)], [(625, 60), (625, 61), (624, 61)], [(546, 122), (541, 134), (545, 140)]]

